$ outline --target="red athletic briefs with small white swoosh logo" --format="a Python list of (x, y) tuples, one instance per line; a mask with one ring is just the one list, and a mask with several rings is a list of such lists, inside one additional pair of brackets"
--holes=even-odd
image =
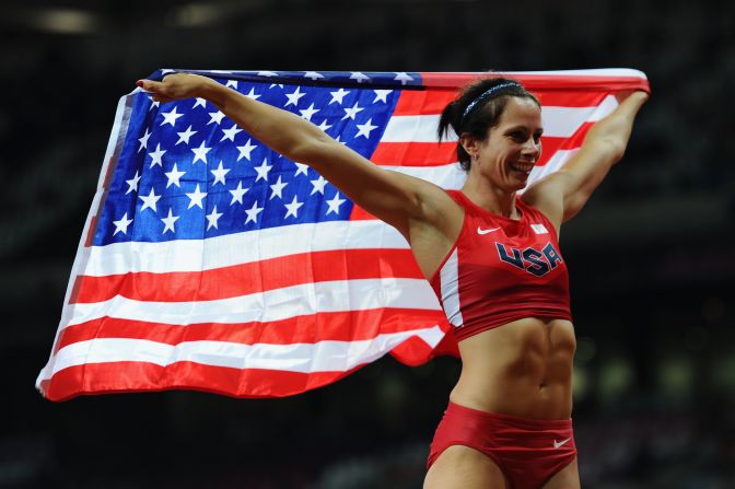
[(427, 468), (452, 445), (466, 445), (492, 458), (512, 489), (540, 488), (576, 456), (571, 419), (526, 419), (450, 403)]

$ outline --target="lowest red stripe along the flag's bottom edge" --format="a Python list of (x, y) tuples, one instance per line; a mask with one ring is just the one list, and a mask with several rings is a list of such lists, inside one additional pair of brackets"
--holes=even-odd
[(287, 372), (232, 369), (176, 362), (167, 366), (145, 362), (85, 363), (60, 370), (40, 383), (46, 397), (60, 401), (81, 394), (186, 388), (234, 397), (283, 397), (320, 387), (342, 379), (346, 372)]

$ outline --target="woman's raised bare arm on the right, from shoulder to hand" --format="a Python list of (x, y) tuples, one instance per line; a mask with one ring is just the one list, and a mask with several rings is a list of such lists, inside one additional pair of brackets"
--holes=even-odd
[(524, 201), (544, 211), (557, 225), (576, 214), (622, 158), (635, 115), (648, 98), (645, 92), (629, 94), (590, 129), (582, 148), (569, 162), (524, 194)]

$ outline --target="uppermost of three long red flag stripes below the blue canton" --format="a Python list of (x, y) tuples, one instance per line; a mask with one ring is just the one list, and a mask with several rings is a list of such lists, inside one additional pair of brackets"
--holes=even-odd
[(408, 249), (339, 249), (202, 271), (83, 276), (78, 278), (71, 301), (93, 303), (116, 295), (153, 302), (210, 301), (302, 283), (375, 277), (423, 278)]

